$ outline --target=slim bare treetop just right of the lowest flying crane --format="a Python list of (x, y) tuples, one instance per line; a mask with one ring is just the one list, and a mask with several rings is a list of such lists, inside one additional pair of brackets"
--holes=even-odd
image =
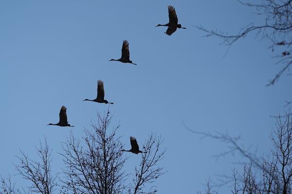
[[(151, 133), (143, 145), (142, 159), (140, 165), (135, 167), (135, 178), (128, 189), (131, 194), (155, 194), (156, 186), (146, 190), (146, 183), (153, 183), (164, 174), (163, 167), (157, 164), (164, 158), (166, 149), (161, 148), (163, 140), (160, 136)], [(163, 150), (160, 150), (163, 149)]]

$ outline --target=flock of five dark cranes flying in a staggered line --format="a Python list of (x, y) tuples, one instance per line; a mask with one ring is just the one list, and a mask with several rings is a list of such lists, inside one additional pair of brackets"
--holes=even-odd
[[(167, 24), (164, 24), (164, 25), (158, 24), (157, 25), (157, 26), (167, 26), (168, 27), (166, 32), (164, 32), (165, 34), (170, 36), (172, 33), (174, 33), (177, 30), (177, 28), (186, 29), (186, 28), (183, 28), (181, 24), (178, 24), (178, 16), (176, 15), (174, 7), (171, 5), (168, 6), (168, 17), (169, 17), (169, 22)], [(123, 42), (121, 58), (120, 59), (111, 59), (110, 61), (119, 61), (122, 63), (130, 63), (133, 65), (137, 65), (137, 64), (134, 64), (130, 60), (129, 43), (127, 40), (124, 40), (124, 42)], [(101, 80), (97, 81), (97, 97), (93, 100), (84, 99), (83, 101), (92, 101), (92, 102), (98, 102), (98, 103), (113, 104), (113, 102), (109, 102), (108, 100), (105, 99), (104, 84), (103, 84), (103, 81), (101, 81)], [(60, 113), (59, 113), (59, 122), (56, 124), (50, 123), (48, 125), (57, 125), (60, 127), (74, 127), (68, 123), (66, 112), (67, 112), (67, 108), (65, 106), (62, 106)], [(129, 150), (122, 149), (121, 151), (128, 151), (128, 152), (132, 152), (134, 154), (142, 153), (142, 151), (139, 150), (137, 140), (134, 137), (130, 137), (130, 143), (131, 143), (131, 149), (129, 149)]]

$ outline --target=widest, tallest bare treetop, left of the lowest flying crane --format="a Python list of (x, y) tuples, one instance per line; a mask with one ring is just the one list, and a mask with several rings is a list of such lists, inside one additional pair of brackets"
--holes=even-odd
[(116, 137), (119, 125), (108, 134), (112, 115), (97, 113), (96, 125), (85, 130), (83, 138), (85, 146), (71, 133), (67, 142), (62, 144), (66, 176), (64, 193), (74, 194), (121, 194), (125, 189), (126, 174), (123, 165), (127, 158), (123, 157), (124, 146), (120, 137)]

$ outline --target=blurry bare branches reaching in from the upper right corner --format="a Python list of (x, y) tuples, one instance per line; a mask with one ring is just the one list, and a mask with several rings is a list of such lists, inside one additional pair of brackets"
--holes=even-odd
[(223, 40), (222, 44), (228, 46), (228, 49), (237, 40), (246, 37), (251, 32), (255, 32), (256, 35), (261, 34), (262, 39), (271, 40), (272, 45), (270, 48), (272, 51), (274, 51), (275, 47), (281, 47), (281, 54), (277, 54), (275, 57), (281, 58), (278, 63), (282, 63), (283, 66), (267, 84), (267, 86), (274, 85), (280, 79), (280, 76), (289, 70), (289, 66), (292, 64), (292, 48), (290, 47), (292, 45), (292, 0), (261, 0), (259, 4), (237, 1), (245, 6), (255, 8), (257, 15), (265, 17), (265, 23), (258, 26), (250, 23), (234, 35), (218, 30), (207, 30), (203, 26), (196, 26), (196, 28), (206, 32), (207, 37), (218, 36)]

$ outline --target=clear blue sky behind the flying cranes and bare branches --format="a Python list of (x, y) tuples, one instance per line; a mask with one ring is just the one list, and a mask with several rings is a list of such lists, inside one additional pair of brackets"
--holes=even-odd
[[(178, 29), (170, 37), (167, 6), (176, 9)], [(265, 87), (279, 70), (270, 42), (255, 34), (226, 47), (216, 37), (203, 38), (193, 25), (238, 32), (262, 19), (236, 0), (79, 1), (6, 0), (0, 2), (0, 175), (15, 175), (19, 148), (36, 158), (35, 145), (47, 136), (54, 170), (62, 167), (60, 142), (70, 128), (47, 126), (58, 122), (62, 105), (68, 110), (73, 133), (81, 137), (109, 106), (83, 102), (96, 96), (97, 80), (104, 81), (106, 99), (114, 102), (112, 124), (118, 133), (142, 144), (151, 131), (167, 147), (161, 166), (167, 170), (156, 184), (159, 193), (196, 193), (204, 179), (229, 174), (238, 156), (215, 161), (226, 149), (200, 138), (182, 125), (201, 131), (240, 134), (244, 142), (268, 154), (274, 126), (270, 115), (283, 112), (292, 100), (291, 77)], [(121, 55), (123, 40), (138, 65), (109, 62)], [(137, 164), (132, 155), (127, 170)], [(12, 177), (17, 186), (26, 184)], [(229, 192), (229, 188), (219, 191)]]

